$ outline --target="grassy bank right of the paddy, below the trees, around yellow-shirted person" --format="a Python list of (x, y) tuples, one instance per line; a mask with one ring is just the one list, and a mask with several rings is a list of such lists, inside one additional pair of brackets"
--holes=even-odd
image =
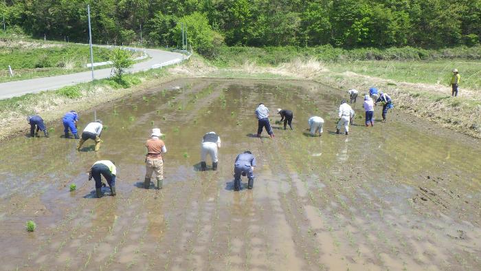
[[(224, 47), (210, 63), (219, 67), (211, 76), (306, 78), (361, 94), (375, 86), (392, 96), (396, 109), (481, 138), (481, 47)], [(449, 86), (453, 68), (461, 74), (457, 98), (451, 98)]]

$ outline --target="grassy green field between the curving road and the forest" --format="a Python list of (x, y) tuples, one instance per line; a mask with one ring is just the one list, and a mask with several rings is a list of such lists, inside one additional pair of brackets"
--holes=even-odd
[[(93, 47), (94, 62), (109, 61), (109, 54), (107, 48)], [(89, 69), (85, 65), (90, 63), (90, 52), (86, 45), (6, 36), (0, 38), (0, 63), (1, 83), (86, 71)], [(14, 69), (12, 77), (8, 65)]]

